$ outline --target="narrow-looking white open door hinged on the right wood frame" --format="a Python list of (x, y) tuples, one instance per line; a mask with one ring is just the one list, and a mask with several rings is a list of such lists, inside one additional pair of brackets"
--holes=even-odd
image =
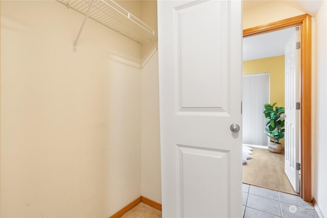
[(285, 46), (285, 173), (296, 192), (300, 192), (299, 171), (296, 170), (300, 142), (300, 110), (296, 106), (300, 102), (300, 49), (296, 48), (299, 34), (299, 27), (294, 28)]

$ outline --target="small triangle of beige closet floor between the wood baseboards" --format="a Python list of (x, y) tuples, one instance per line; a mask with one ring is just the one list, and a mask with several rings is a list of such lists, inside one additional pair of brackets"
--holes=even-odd
[(124, 218), (161, 218), (161, 211), (151, 207), (143, 202), (133, 207), (130, 211), (125, 213)]

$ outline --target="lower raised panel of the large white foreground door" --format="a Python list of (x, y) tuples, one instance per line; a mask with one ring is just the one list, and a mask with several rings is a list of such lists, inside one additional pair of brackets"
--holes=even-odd
[[(229, 153), (178, 146), (181, 217), (227, 217)], [(221, 166), (221, 167), (213, 167)], [(225, 187), (221, 190), (220, 187)]]

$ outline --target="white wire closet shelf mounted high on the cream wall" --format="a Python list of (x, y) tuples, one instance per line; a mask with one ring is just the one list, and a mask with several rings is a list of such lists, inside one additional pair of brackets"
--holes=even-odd
[(139, 44), (156, 39), (151, 27), (112, 0), (57, 1)]

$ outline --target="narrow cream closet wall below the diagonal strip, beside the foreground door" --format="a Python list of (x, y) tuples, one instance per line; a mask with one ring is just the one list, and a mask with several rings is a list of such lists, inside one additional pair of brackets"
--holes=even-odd
[(141, 192), (161, 203), (158, 52), (142, 69), (141, 81)]

